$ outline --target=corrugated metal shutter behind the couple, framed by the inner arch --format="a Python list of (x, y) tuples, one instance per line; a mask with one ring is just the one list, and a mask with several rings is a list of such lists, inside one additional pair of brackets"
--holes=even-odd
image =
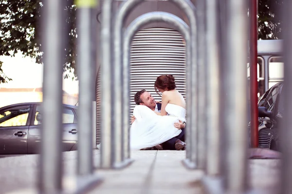
[(185, 71), (185, 44), (178, 31), (149, 28), (137, 32), (131, 46), (131, 113), (136, 106), (134, 95), (141, 89), (146, 89), (156, 100), (161, 100), (154, 90), (154, 82), (163, 74), (172, 74), (175, 77), (177, 89), (185, 98)]

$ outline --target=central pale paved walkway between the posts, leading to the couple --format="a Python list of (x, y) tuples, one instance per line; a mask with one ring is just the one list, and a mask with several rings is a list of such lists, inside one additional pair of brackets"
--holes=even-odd
[(105, 178), (91, 194), (201, 194), (199, 170), (188, 170), (185, 151), (137, 151), (122, 171), (98, 170)]

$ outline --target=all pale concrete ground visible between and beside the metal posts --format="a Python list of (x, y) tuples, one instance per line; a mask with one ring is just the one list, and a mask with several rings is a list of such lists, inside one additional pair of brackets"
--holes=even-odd
[[(99, 151), (94, 150), (98, 167)], [(38, 155), (0, 158), (0, 194), (33, 194), (36, 192)], [(135, 151), (134, 162), (121, 170), (96, 170), (103, 181), (89, 194), (203, 194), (200, 170), (186, 169), (185, 151)], [(76, 174), (77, 152), (64, 152), (64, 174)], [(280, 161), (249, 161), (249, 184), (252, 189), (277, 194), (280, 183)], [(70, 186), (70, 185), (69, 185)], [(71, 185), (72, 186), (72, 185)]]

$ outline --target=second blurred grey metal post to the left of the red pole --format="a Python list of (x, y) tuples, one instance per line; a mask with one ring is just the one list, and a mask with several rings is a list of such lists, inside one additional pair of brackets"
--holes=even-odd
[(206, 1), (207, 39), (207, 175), (217, 176), (220, 171), (220, 53), (219, 53), (219, 0)]

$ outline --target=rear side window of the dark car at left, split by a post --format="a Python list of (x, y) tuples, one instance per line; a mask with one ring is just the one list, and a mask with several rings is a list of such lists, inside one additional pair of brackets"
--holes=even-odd
[[(37, 111), (35, 115), (35, 120), (34, 120), (34, 125), (40, 125), (41, 120), (42, 120), (42, 115), (41, 115), (41, 106), (37, 105)], [(75, 120), (75, 115), (73, 113), (73, 110), (70, 108), (63, 108), (63, 123), (64, 124), (69, 124), (69, 123), (74, 123)]]

